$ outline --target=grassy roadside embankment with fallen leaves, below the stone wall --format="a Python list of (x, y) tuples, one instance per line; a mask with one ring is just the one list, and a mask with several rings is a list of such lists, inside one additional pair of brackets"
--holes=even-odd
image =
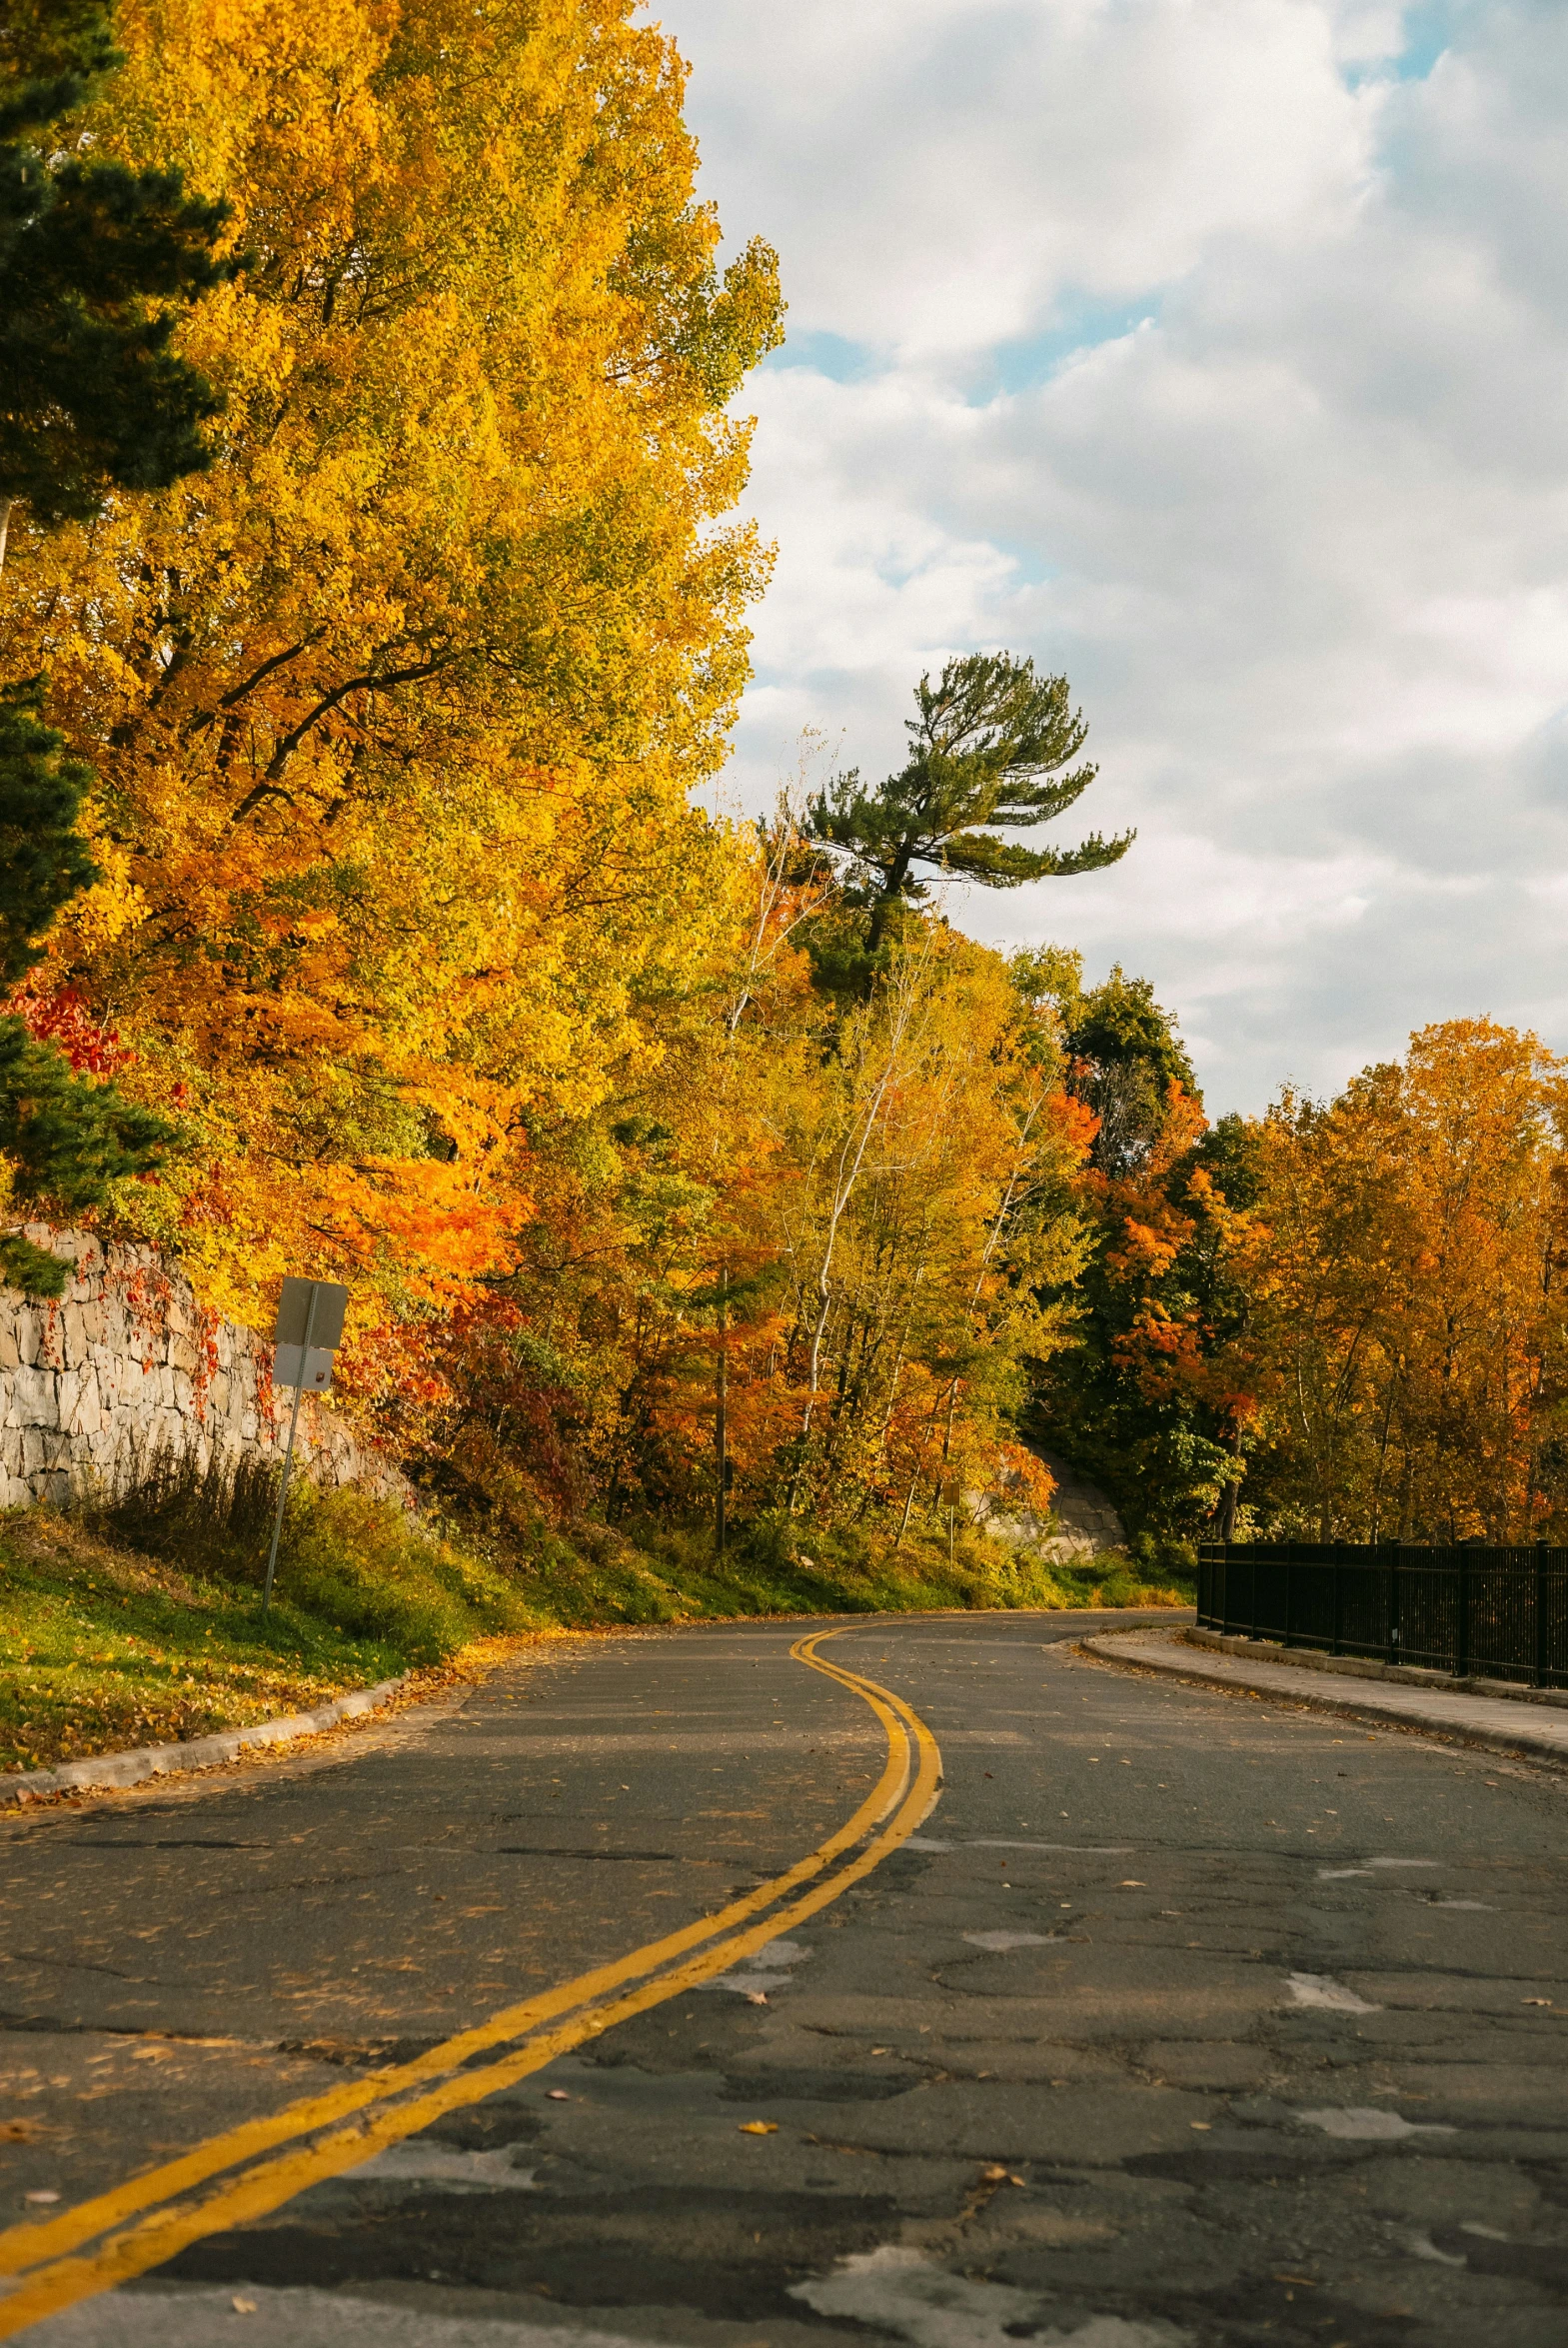
[[(1124, 1559), (1047, 1568), (976, 1533), (859, 1538), (765, 1526), (716, 1559), (695, 1533), (582, 1526), (500, 1564), (364, 1493), (300, 1484), (261, 1615), (265, 1477), (153, 1477), (115, 1505), (0, 1514), (0, 1770), (296, 1712), (404, 1672), (472, 1669), (486, 1641), (615, 1622), (1185, 1604)], [(491, 1653), (498, 1653), (491, 1646)]]

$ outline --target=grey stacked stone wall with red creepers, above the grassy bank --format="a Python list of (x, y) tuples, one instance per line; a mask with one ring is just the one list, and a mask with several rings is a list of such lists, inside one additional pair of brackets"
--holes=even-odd
[[(160, 1451), (282, 1458), (291, 1388), (272, 1385), (272, 1343), (202, 1310), (153, 1247), (26, 1226), (75, 1266), (56, 1303), (0, 1289), (0, 1505), (115, 1489)], [(413, 1505), (397, 1468), (317, 1395), (300, 1402), (293, 1456), (317, 1484), (361, 1484)]]

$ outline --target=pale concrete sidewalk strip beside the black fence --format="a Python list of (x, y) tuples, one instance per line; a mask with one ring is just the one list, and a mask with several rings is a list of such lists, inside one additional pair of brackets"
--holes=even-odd
[(1082, 1641), (1082, 1651), (1099, 1655), (1101, 1662), (1169, 1672), (1176, 1679), (1195, 1679), (1235, 1695), (1268, 1695), (1275, 1702), (1310, 1705), (1317, 1712), (1350, 1714), (1357, 1721), (1430, 1728), (1437, 1735), (1458, 1738), (1462, 1745), (1568, 1761), (1568, 1712), (1556, 1705), (1392, 1686), (1385, 1679), (1361, 1679), (1293, 1662), (1253, 1662), (1190, 1646), (1178, 1630), (1099, 1632)]

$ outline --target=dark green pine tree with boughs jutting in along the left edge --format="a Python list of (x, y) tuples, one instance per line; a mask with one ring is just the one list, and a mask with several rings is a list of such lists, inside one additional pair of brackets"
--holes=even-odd
[[(232, 275), (223, 204), (176, 171), (61, 155), (45, 136), (117, 66), (103, 0), (5, 0), (0, 12), (0, 561), (12, 507), (85, 521), (110, 491), (167, 488), (209, 463), (218, 399), (169, 350), (178, 305)], [(94, 772), (42, 721), (45, 681), (0, 686), (0, 986), (42, 956), (63, 904), (96, 878), (77, 831)], [(19, 1017), (0, 1017), (0, 1155), (12, 1202), (108, 1205), (153, 1172), (174, 1129), (115, 1085), (80, 1078)], [(0, 1235), (0, 1277), (59, 1296), (68, 1266)]]

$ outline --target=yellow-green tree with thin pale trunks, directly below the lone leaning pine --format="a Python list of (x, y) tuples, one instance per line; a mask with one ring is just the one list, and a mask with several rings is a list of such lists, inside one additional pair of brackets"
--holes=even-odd
[(993, 1489), (1045, 1303), (1080, 1261), (1082, 1125), (1054, 1038), (1000, 956), (918, 923), (789, 1104), (791, 1505), (897, 1507)]

